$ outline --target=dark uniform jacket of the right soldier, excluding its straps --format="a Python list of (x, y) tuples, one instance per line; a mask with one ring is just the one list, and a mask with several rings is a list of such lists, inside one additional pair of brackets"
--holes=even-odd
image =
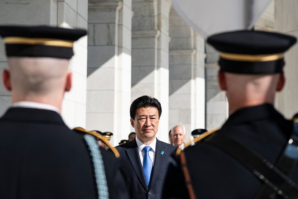
[[(223, 133), (275, 163), (292, 131), (270, 104), (234, 112), (216, 133)], [(196, 198), (254, 198), (261, 181), (237, 160), (211, 144), (199, 142), (184, 149)], [(163, 198), (189, 198), (178, 158), (169, 166)], [(178, 165), (176, 163), (178, 162)], [(297, 166), (290, 178), (298, 182)]]

